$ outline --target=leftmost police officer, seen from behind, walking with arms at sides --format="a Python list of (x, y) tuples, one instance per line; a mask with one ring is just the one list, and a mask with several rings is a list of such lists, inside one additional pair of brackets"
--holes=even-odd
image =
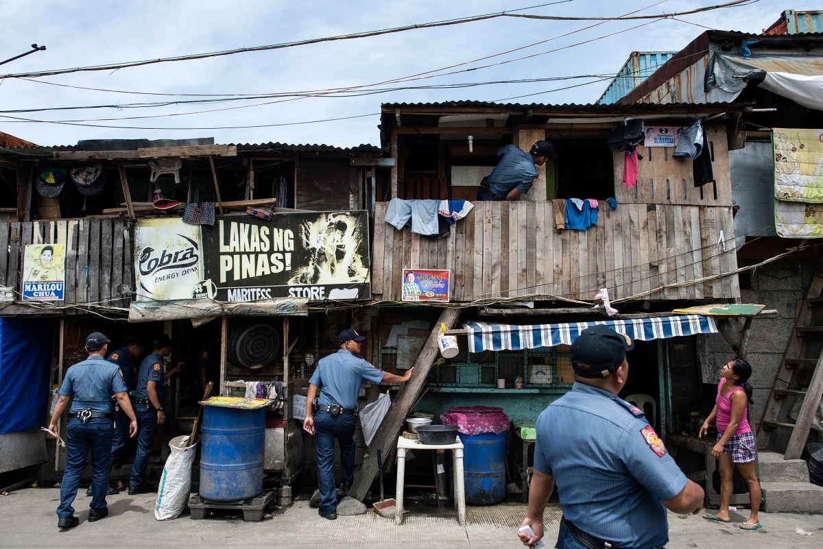
[(89, 522), (104, 519), (109, 514), (106, 506), (106, 487), (109, 484), (112, 420), (111, 395), (129, 419), (129, 435), (137, 434), (137, 419), (128, 400), (123, 373), (105, 359), (108, 344), (104, 334), (94, 332), (86, 338), (89, 358), (77, 362), (66, 372), (54, 407), (49, 431), (57, 436), (60, 416), (73, 396), (72, 409), (66, 431), (66, 470), (60, 484), (60, 505), (57, 508), (58, 528), (74, 528), (80, 520), (74, 516), (72, 502), (77, 496), (80, 475), (86, 467), (86, 453), (91, 449), (91, 491)]

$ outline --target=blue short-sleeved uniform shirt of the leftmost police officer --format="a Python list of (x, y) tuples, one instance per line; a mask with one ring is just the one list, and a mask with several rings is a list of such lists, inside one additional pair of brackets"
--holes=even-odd
[(74, 397), (72, 413), (86, 408), (91, 408), (92, 412), (109, 413), (111, 395), (126, 392), (126, 384), (116, 364), (92, 355), (68, 369), (58, 392)]

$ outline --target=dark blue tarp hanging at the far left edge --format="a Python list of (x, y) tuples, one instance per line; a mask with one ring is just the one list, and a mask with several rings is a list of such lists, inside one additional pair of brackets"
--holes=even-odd
[(51, 320), (0, 318), (0, 433), (45, 422), (52, 328)]

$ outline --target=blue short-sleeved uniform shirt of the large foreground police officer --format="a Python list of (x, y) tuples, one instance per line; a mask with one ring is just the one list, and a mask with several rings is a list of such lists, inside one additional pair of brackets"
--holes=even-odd
[(537, 418), (534, 468), (555, 477), (566, 519), (618, 547), (663, 547), (686, 476), (643, 412), (575, 383)]

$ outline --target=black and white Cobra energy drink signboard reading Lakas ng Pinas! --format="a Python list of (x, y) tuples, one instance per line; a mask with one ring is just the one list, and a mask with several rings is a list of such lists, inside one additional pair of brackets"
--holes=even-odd
[(255, 302), (371, 297), (366, 211), (137, 222), (139, 300)]

